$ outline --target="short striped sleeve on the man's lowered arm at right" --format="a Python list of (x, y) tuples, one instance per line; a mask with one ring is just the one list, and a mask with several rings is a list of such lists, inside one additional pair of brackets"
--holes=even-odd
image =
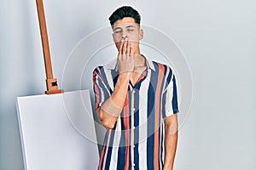
[[(172, 71), (170, 71), (172, 73)], [(172, 73), (172, 77), (168, 82), (166, 89), (164, 90), (162, 97), (162, 116), (171, 116), (178, 112), (177, 103), (177, 83), (175, 75)]]

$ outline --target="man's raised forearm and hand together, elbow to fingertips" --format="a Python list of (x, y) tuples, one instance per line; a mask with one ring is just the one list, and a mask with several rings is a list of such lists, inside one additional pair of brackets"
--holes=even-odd
[(118, 55), (119, 75), (113, 93), (104, 101), (102, 106), (96, 110), (103, 127), (113, 128), (125, 103), (127, 88), (134, 69), (134, 59), (131, 49), (131, 42), (127, 39), (119, 44)]

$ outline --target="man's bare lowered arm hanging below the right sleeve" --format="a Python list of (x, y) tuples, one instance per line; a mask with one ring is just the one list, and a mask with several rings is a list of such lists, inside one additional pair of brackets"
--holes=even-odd
[(177, 149), (177, 120), (166, 123), (165, 133), (164, 170), (172, 170)]

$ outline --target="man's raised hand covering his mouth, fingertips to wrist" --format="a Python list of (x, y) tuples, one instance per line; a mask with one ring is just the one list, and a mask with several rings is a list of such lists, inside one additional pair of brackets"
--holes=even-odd
[(119, 54), (118, 54), (118, 67), (119, 73), (129, 73), (131, 76), (131, 72), (134, 69), (134, 59), (133, 59), (133, 51), (131, 48), (131, 42), (128, 39), (122, 39), (119, 45)]

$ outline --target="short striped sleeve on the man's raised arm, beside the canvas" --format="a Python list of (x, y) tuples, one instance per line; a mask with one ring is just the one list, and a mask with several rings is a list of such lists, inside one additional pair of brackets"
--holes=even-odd
[(109, 98), (110, 90), (108, 88), (107, 78), (104, 76), (105, 73), (102, 66), (96, 67), (93, 71), (93, 89), (95, 95), (95, 108), (99, 108), (102, 103)]

